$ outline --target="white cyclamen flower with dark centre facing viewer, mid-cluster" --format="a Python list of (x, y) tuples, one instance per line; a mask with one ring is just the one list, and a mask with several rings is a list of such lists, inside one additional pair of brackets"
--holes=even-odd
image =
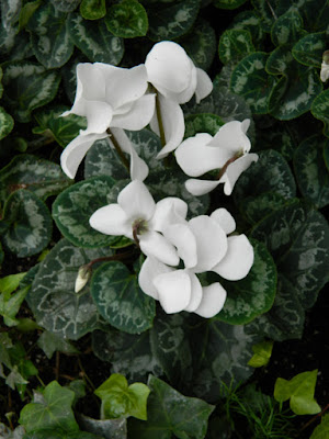
[(90, 217), (91, 227), (105, 235), (124, 235), (138, 240), (140, 250), (163, 263), (177, 266), (175, 247), (161, 234), (171, 222), (184, 222), (188, 205), (177, 198), (167, 198), (156, 204), (146, 185), (132, 181), (117, 196), (117, 204), (109, 204)]

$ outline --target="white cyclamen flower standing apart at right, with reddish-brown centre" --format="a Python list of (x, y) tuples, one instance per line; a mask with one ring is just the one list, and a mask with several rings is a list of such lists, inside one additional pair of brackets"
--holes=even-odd
[(200, 177), (214, 169), (222, 169), (218, 180), (190, 179), (185, 187), (193, 195), (211, 192), (224, 183), (224, 193), (230, 195), (240, 175), (258, 160), (257, 154), (249, 154), (250, 140), (246, 133), (250, 120), (231, 121), (223, 125), (212, 137), (200, 133), (184, 140), (175, 150), (175, 158), (182, 170), (190, 177)]

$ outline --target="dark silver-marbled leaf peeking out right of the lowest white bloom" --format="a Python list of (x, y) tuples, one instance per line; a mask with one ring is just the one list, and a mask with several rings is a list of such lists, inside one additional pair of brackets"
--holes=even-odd
[(276, 268), (266, 247), (251, 240), (254, 262), (247, 278), (228, 282), (220, 279), (227, 300), (217, 318), (230, 325), (243, 325), (273, 305), (276, 293)]

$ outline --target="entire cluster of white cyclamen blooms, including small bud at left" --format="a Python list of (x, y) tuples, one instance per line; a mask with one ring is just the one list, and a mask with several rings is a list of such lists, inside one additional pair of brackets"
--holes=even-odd
[[(186, 189), (192, 194), (204, 194), (224, 183), (224, 192), (229, 195), (241, 172), (258, 159), (249, 153), (246, 133), (250, 121), (231, 121), (214, 137), (200, 133), (182, 142), (185, 126), (180, 105), (194, 94), (200, 102), (213, 85), (173, 42), (156, 44), (145, 64), (131, 69), (80, 64), (77, 81), (73, 106), (63, 115), (86, 116), (88, 125), (64, 150), (64, 171), (73, 178), (88, 149), (101, 138), (131, 157), (132, 182), (121, 191), (117, 203), (93, 213), (91, 227), (135, 240), (146, 256), (138, 277), (140, 289), (158, 300), (167, 313), (215, 316), (227, 293), (219, 281), (202, 286), (198, 275), (212, 271), (230, 281), (240, 280), (253, 264), (253, 248), (246, 235), (235, 232), (235, 219), (226, 209), (186, 219), (189, 206), (183, 200), (171, 196), (156, 203), (143, 182), (148, 167), (124, 130), (138, 131), (149, 124), (162, 143), (157, 158), (175, 150), (179, 166), (190, 177), (218, 169), (215, 181), (188, 180)], [(84, 271), (80, 271), (77, 290), (87, 281)]]

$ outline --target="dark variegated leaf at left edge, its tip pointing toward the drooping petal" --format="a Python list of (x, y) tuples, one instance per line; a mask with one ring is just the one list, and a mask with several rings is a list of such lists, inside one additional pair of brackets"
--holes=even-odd
[(70, 185), (72, 180), (53, 161), (22, 154), (1, 169), (0, 182), (0, 203), (4, 203), (8, 196), (19, 189), (27, 189), (45, 200)]

